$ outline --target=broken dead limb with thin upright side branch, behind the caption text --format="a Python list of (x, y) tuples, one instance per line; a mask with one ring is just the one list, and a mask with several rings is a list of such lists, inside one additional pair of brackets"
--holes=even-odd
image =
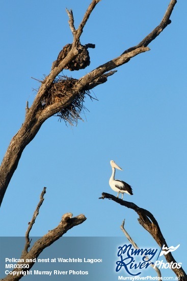
[[(60, 221), (59, 225), (56, 228), (49, 230), (46, 235), (44, 235), (42, 238), (37, 240), (29, 251), (30, 244), (31, 244), (29, 234), (30, 234), (33, 224), (35, 223), (36, 217), (39, 214), (39, 209), (44, 201), (45, 192), (46, 192), (46, 188), (43, 189), (43, 191), (40, 195), (40, 201), (36, 207), (33, 218), (31, 220), (31, 222), (29, 223), (28, 230), (25, 233), (25, 246), (24, 246), (24, 249), (23, 249), (21, 257), (20, 257), (20, 259), (24, 259), (24, 263), (18, 263), (18, 264), (29, 264), (29, 268), (26, 268), (26, 269), (16, 268), (12, 271), (17, 271), (18, 274), (16, 274), (16, 275), (8, 274), (5, 278), (1, 279), (1, 281), (17, 281), (17, 280), (21, 279), (21, 277), (24, 276), (23, 275), (24, 273), (22, 274), (19, 272), (29, 271), (35, 264), (34, 259), (37, 259), (39, 254), (46, 247), (49, 247), (52, 243), (54, 243), (59, 238), (61, 238), (64, 235), (64, 233), (66, 233), (69, 229), (71, 229), (72, 227), (74, 227), (76, 225), (83, 223), (86, 220), (86, 217), (83, 214), (78, 215), (74, 218), (72, 217), (73, 215), (71, 213), (64, 214), (62, 216), (62, 220)], [(26, 259), (30, 259), (30, 260), (32, 260), (32, 262), (26, 262)]]

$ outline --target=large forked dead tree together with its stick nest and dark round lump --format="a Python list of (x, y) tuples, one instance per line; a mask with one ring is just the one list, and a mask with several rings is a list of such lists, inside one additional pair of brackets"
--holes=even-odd
[(73, 42), (63, 48), (52, 65), (51, 72), (41, 81), (41, 86), (32, 106), (29, 108), (28, 104), (26, 105), (25, 120), (19, 131), (12, 138), (0, 167), (0, 204), (3, 201), (24, 148), (36, 136), (42, 124), (54, 114), (71, 123), (80, 118), (79, 113), (83, 108), (84, 97), (87, 94), (89, 95), (90, 89), (106, 82), (108, 77), (116, 72), (115, 68), (127, 63), (131, 58), (150, 50), (148, 48), (149, 43), (171, 24), (170, 16), (177, 0), (170, 1), (161, 23), (138, 45), (125, 50), (117, 58), (99, 65), (80, 79), (67, 77), (59, 79), (58, 75), (63, 69), (73, 71), (85, 68), (90, 64), (88, 48), (94, 48), (94, 44), (82, 45), (80, 37), (90, 14), (99, 2), (100, 0), (92, 0), (77, 29), (74, 26), (73, 12), (67, 10)]

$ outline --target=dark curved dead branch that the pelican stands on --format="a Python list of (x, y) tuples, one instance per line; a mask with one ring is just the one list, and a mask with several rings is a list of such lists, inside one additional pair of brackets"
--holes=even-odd
[[(138, 218), (139, 223), (150, 233), (150, 235), (154, 238), (154, 240), (159, 245), (159, 247), (162, 247), (163, 245), (168, 247), (166, 240), (161, 232), (161, 229), (159, 228), (159, 225), (158, 225), (156, 219), (148, 210), (140, 208), (139, 206), (137, 206), (136, 204), (134, 204), (132, 202), (123, 201), (109, 193), (103, 192), (102, 197), (100, 197), (99, 199), (104, 199), (104, 198), (111, 199), (111, 200), (119, 203), (122, 206), (135, 210), (135, 212), (139, 215), (139, 218)], [(166, 254), (165, 257), (166, 257), (166, 261), (168, 263), (171, 263), (171, 262), (176, 263), (171, 252)], [(187, 275), (184, 272), (184, 270), (182, 269), (182, 267), (181, 268), (172, 268), (172, 270), (175, 272), (177, 277), (180, 277), (179, 280), (181, 280), (181, 281), (187, 280)]]

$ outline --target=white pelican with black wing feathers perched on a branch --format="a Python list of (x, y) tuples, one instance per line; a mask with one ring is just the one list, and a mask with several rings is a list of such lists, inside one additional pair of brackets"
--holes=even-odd
[[(120, 193), (122, 193), (122, 200), (123, 200), (123, 193), (127, 193), (129, 195), (133, 195), (131, 186), (124, 182), (123, 180), (115, 179), (115, 171), (116, 169), (121, 170), (122, 169), (113, 161), (110, 161), (111, 167), (112, 167), (112, 176), (109, 180), (109, 185), (111, 186), (111, 189), (116, 191), (118, 193), (117, 198)], [(115, 169), (116, 168), (116, 169)]]

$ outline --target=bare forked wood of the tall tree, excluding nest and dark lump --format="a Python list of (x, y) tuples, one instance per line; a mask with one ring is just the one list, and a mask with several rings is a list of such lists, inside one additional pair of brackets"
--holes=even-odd
[(81, 52), (79, 49), (80, 45), (80, 37), (83, 33), (83, 29), (86, 25), (86, 22), (95, 8), (95, 6), (99, 3), (100, 0), (92, 0), (89, 8), (87, 9), (81, 24), (78, 29), (74, 27), (74, 19), (72, 11), (68, 11), (69, 16), (69, 25), (73, 34), (73, 42), (71, 46), (71, 50), (65, 56), (62, 61), (59, 61), (57, 66), (52, 68), (51, 72), (48, 76), (42, 81), (41, 86), (38, 90), (37, 96), (29, 109), (26, 108), (26, 116), (24, 123), (22, 124), (19, 131), (12, 138), (10, 145), (7, 149), (7, 152), (4, 156), (0, 167), (0, 204), (3, 201), (5, 192), (9, 185), (9, 182), (17, 168), (19, 159), (21, 154), (32, 139), (36, 136), (42, 124), (52, 115), (56, 114), (60, 110), (67, 108), (73, 99), (79, 95), (79, 92), (84, 89), (91, 89), (101, 83), (106, 82), (108, 76), (113, 75), (115, 71), (112, 69), (119, 67), (120, 65), (128, 62), (132, 57), (137, 56), (143, 52), (149, 51), (147, 45), (154, 40), (170, 23), (170, 15), (173, 11), (173, 8), (176, 4), (176, 0), (171, 0), (168, 6), (168, 9), (159, 24), (149, 35), (147, 35), (137, 46), (133, 46), (132, 48), (123, 52), (117, 58), (108, 61), (97, 68), (95, 68), (92, 72), (88, 73), (84, 77), (77, 80), (74, 84), (73, 88), (68, 92), (66, 92), (66, 96), (63, 100), (57, 101), (53, 104), (48, 105), (47, 107), (42, 107), (42, 101), (47, 93), (47, 90), (50, 88), (56, 77), (60, 72), (63, 71), (67, 65), (70, 64), (74, 60), (74, 58)]

